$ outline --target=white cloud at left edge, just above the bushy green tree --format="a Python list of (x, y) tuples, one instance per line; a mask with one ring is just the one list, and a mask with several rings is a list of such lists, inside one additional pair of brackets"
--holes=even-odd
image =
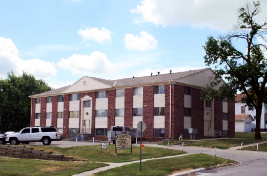
[(13, 70), (15, 74), (28, 72), (36, 79), (49, 79), (56, 75), (53, 64), (40, 59), (23, 60), (10, 38), (0, 37), (0, 77), (6, 77)]

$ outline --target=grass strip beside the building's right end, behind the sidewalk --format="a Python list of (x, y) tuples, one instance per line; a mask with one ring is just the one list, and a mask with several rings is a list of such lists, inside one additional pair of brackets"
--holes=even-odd
[[(243, 142), (243, 145), (248, 145), (252, 143), (267, 141), (267, 134), (261, 134), (262, 140), (254, 139), (255, 133), (235, 133), (235, 138), (226, 139), (220, 138), (218, 140), (206, 140), (206, 141), (195, 141), (185, 146), (201, 146), (207, 148), (220, 148), (220, 149), (228, 149), (230, 147), (240, 146)], [(207, 138), (210, 139), (210, 138)], [(167, 142), (168, 144), (168, 142)], [(162, 145), (167, 145), (166, 142)], [(178, 144), (178, 140), (170, 141), (171, 144)]]

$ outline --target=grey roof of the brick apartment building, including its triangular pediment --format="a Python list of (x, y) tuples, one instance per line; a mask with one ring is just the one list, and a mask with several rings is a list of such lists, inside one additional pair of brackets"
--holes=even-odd
[[(199, 74), (202, 73), (202, 74)], [(186, 72), (157, 74), (152, 76), (132, 77), (116, 80), (107, 80), (96, 77), (84, 76), (70, 86), (61, 87), (52, 91), (44, 92), (42, 94), (32, 95), (34, 97), (52, 96), (60, 94), (71, 94), (86, 91), (98, 91), (108, 89), (125, 89), (125, 87), (146, 86), (168, 84), (169, 82), (180, 83), (183, 85), (192, 85), (196, 87), (203, 87), (209, 83), (209, 77), (213, 76), (213, 71), (210, 68), (190, 70)], [(222, 80), (222, 83), (224, 81)]]

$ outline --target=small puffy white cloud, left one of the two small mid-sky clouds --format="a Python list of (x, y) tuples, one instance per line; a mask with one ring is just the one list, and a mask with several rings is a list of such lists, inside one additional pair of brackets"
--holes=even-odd
[(86, 28), (77, 32), (84, 40), (93, 40), (98, 43), (104, 43), (111, 40), (111, 32), (105, 28)]

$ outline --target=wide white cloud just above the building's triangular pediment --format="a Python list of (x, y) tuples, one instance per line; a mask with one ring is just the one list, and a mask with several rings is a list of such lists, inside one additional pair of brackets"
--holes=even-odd
[(94, 51), (89, 55), (73, 54), (67, 59), (61, 58), (58, 67), (71, 71), (72, 74), (89, 75), (92, 73), (112, 73), (116, 69), (104, 53)]

